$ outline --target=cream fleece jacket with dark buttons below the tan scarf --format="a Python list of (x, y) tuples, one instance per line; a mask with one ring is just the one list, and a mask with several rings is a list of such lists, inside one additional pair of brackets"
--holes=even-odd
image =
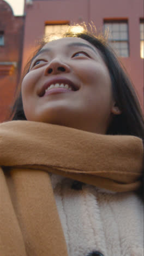
[(143, 202), (135, 193), (74, 190), (74, 181), (56, 174), (51, 182), (69, 256), (143, 256)]

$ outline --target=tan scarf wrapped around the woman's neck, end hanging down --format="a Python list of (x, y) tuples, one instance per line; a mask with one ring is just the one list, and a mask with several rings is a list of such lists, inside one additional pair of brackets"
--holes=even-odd
[(49, 172), (111, 191), (140, 187), (134, 136), (10, 121), (0, 125), (0, 256), (66, 256)]

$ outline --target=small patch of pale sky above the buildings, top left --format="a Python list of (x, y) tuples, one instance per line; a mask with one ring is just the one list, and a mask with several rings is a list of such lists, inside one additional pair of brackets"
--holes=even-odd
[(4, 0), (9, 3), (15, 16), (23, 15), (24, 0)]

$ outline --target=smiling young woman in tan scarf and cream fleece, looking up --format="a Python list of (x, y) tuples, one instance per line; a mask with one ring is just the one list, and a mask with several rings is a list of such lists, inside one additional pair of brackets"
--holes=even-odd
[(2, 255), (142, 256), (143, 135), (104, 38), (42, 42), (0, 127)]

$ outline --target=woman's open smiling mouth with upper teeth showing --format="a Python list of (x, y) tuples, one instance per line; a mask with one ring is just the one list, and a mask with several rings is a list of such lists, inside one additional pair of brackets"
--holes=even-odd
[(43, 97), (49, 94), (72, 92), (77, 90), (79, 90), (79, 87), (69, 79), (59, 77), (57, 79), (50, 79), (47, 81), (38, 95), (39, 97)]

